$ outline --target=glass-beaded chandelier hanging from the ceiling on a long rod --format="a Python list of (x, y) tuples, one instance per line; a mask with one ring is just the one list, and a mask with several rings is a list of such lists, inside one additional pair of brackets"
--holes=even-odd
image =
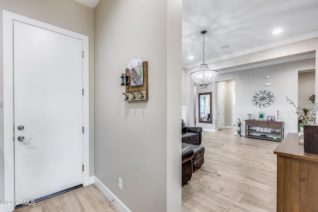
[(207, 33), (206, 30), (201, 31), (203, 34), (203, 64), (200, 65), (198, 71), (194, 71), (190, 73), (191, 78), (194, 83), (200, 85), (201, 89), (207, 88), (209, 84), (211, 84), (218, 75), (218, 71), (210, 70), (208, 65), (204, 64), (204, 34)]

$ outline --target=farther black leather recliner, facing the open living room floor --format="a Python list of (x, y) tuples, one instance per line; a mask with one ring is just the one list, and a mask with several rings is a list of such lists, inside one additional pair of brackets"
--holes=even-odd
[(194, 145), (200, 145), (202, 140), (201, 127), (186, 127), (182, 119), (182, 142)]

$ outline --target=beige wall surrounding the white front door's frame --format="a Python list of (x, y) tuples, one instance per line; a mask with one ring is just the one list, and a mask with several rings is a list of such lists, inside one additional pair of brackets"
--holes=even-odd
[[(2, 41), (2, 10), (65, 28), (89, 37), (90, 82), (90, 175), (94, 173), (94, 10), (74, 0), (0, 0), (0, 40)], [(3, 99), (2, 42), (0, 42), (0, 99)], [(5, 102), (3, 103), (5, 105)], [(0, 105), (0, 200), (3, 200), (3, 107)]]

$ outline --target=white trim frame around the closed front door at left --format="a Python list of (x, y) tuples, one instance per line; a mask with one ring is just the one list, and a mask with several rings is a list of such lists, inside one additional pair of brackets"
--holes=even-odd
[(4, 200), (13, 205), (4, 206), (4, 211), (14, 210), (14, 143), (13, 143), (13, 21), (20, 21), (43, 29), (82, 40), (83, 43), (83, 186), (89, 185), (89, 68), (88, 36), (37, 21), (3, 10), (3, 139), (4, 139)]

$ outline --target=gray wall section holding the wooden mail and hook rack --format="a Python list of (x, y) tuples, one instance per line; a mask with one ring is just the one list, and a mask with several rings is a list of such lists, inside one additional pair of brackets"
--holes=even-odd
[[(181, 210), (181, 3), (101, 0), (94, 11), (95, 177), (135, 212)], [(132, 58), (149, 63), (148, 101), (124, 101)]]

